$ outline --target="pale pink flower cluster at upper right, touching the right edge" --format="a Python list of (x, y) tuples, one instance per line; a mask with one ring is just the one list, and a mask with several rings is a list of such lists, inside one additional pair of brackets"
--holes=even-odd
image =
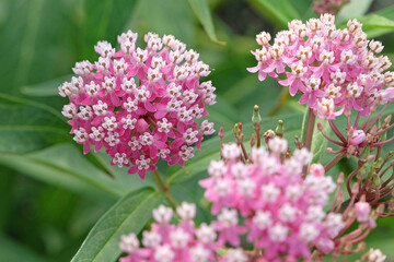
[(394, 72), (384, 72), (392, 63), (378, 56), (382, 43), (368, 40), (359, 22), (349, 20), (345, 29), (334, 22), (332, 14), (306, 24), (293, 20), (274, 44), (269, 33), (262, 32), (256, 36), (262, 48), (252, 51), (258, 63), (248, 71), (258, 72), (260, 81), (270, 75), (289, 86), (292, 96), (300, 92), (299, 103), (321, 118), (334, 119), (351, 109), (367, 116), (378, 104), (394, 100)]

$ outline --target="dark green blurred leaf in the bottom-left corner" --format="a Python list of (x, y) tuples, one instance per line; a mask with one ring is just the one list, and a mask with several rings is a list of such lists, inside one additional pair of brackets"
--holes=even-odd
[(0, 261), (7, 262), (48, 262), (48, 260), (36, 254), (27, 247), (24, 247), (11, 239), (0, 236)]

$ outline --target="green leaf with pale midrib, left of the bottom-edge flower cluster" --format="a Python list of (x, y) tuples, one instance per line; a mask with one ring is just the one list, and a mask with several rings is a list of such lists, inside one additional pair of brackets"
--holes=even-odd
[(139, 234), (163, 201), (161, 193), (149, 188), (127, 194), (100, 218), (71, 262), (117, 261), (120, 236)]

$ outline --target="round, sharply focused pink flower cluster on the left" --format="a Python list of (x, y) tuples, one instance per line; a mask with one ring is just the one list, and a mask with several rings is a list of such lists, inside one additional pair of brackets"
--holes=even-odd
[(194, 156), (192, 145), (199, 148), (202, 136), (215, 132), (213, 123), (198, 127), (195, 119), (208, 115), (205, 105), (216, 103), (216, 88), (210, 81), (199, 83), (209, 67), (172, 35), (148, 33), (146, 49), (136, 48), (136, 40), (131, 31), (119, 35), (119, 51), (99, 41), (99, 61), (78, 62), (79, 76), (59, 93), (70, 99), (62, 114), (84, 153), (91, 144), (96, 152), (104, 146), (112, 165), (131, 163), (128, 172), (143, 179), (159, 158), (184, 165)]

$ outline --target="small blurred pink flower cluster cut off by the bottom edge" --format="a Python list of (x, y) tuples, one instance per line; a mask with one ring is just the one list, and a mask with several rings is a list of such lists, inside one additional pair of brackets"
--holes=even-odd
[[(193, 218), (196, 214), (196, 206), (183, 202), (177, 207), (177, 215), (181, 218), (178, 225), (171, 225), (173, 211), (163, 205), (153, 210), (155, 221), (150, 231), (143, 231), (142, 245), (140, 248), (139, 240), (135, 234), (121, 237), (120, 249), (128, 255), (119, 262), (206, 262), (218, 261), (216, 251), (222, 246), (216, 242), (217, 233), (212, 226), (201, 224), (195, 228)], [(246, 262), (246, 255), (241, 250), (233, 250), (232, 259), (219, 261), (237, 261)]]

